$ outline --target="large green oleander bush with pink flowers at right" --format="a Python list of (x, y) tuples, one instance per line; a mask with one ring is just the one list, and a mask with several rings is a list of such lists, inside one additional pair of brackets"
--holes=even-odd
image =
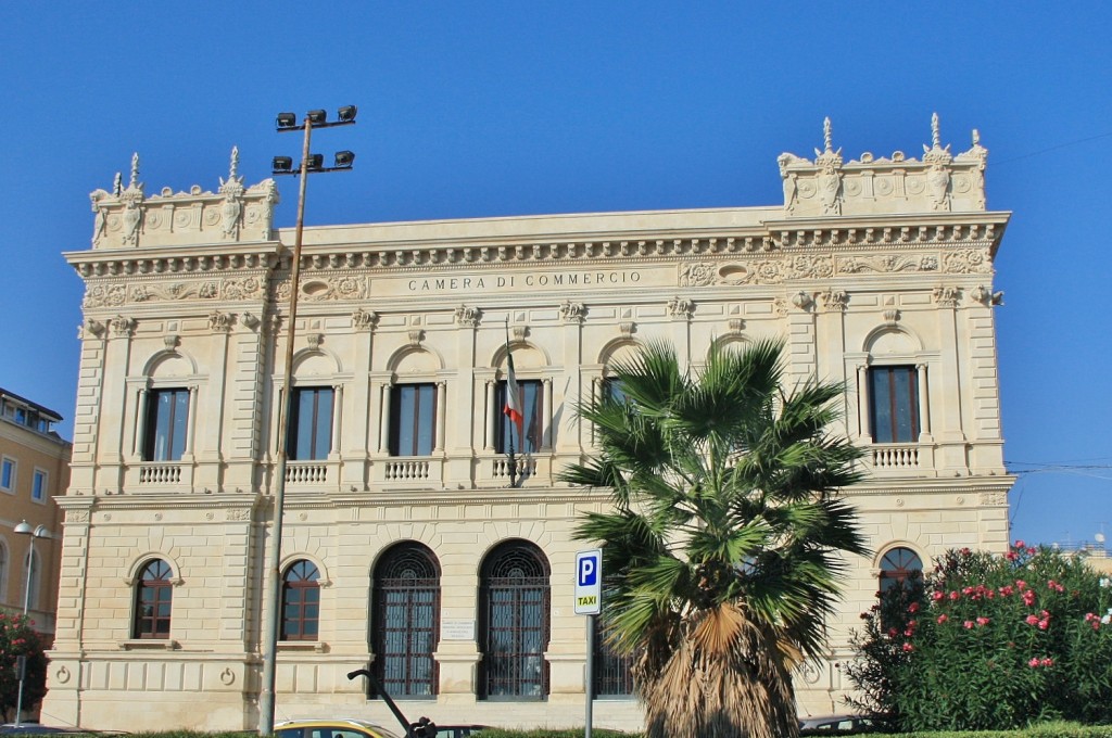
[(952, 550), (862, 618), (848, 701), (894, 729), (1112, 722), (1112, 586), (1083, 557), (1023, 541), (1004, 556)]

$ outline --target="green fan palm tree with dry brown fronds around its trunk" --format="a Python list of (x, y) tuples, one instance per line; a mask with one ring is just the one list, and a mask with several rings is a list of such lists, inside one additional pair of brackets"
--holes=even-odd
[(867, 554), (838, 499), (861, 456), (830, 431), (843, 388), (785, 392), (783, 352), (712, 346), (686, 371), (649, 343), (578, 408), (599, 452), (560, 478), (612, 490), (576, 537), (604, 545), (604, 631), (636, 657), (648, 738), (797, 736), (792, 671), (822, 654), (842, 554)]

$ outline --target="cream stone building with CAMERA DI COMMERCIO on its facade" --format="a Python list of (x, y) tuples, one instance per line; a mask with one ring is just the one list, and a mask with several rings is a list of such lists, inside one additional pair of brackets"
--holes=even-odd
[[(295, 343), (278, 718), (390, 724), (376, 669), (441, 724), (636, 727), (624, 665), (585, 675), (570, 531), (602, 490), (574, 406), (652, 338), (787, 341), (791, 377), (844, 381), (866, 450), (851, 562), (802, 711), (841, 707), (848, 629), (881, 586), (1007, 540), (987, 151), (780, 157), (770, 207), (309, 228)], [(61, 592), (44, 712), (93, 728), (251, 728), (292, 230), (232, 157), (217, 192), (92, 195)], [(507, 338), (524, 406), (505, 422)], [(513, 437), (524, 482), (510, 488)]]

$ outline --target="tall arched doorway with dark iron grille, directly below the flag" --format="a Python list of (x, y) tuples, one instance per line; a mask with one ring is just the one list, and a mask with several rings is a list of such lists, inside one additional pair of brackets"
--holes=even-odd
[(544, 699), (549, 637), (548, 560), (533, 543), (509, 541), (483, 564), (479, 607), (483, 697)]

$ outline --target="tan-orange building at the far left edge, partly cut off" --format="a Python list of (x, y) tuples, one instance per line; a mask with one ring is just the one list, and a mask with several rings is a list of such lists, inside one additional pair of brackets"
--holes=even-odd
[[(54, 498), (69, 487), (70, 443), (53, 430), (61, 419), (0, 388), (0, 611), (22, 612), (26, 605), (48, 644), (62, 539)], [(24, 521), (30, 532), (20, 533), (17, 527)]]

